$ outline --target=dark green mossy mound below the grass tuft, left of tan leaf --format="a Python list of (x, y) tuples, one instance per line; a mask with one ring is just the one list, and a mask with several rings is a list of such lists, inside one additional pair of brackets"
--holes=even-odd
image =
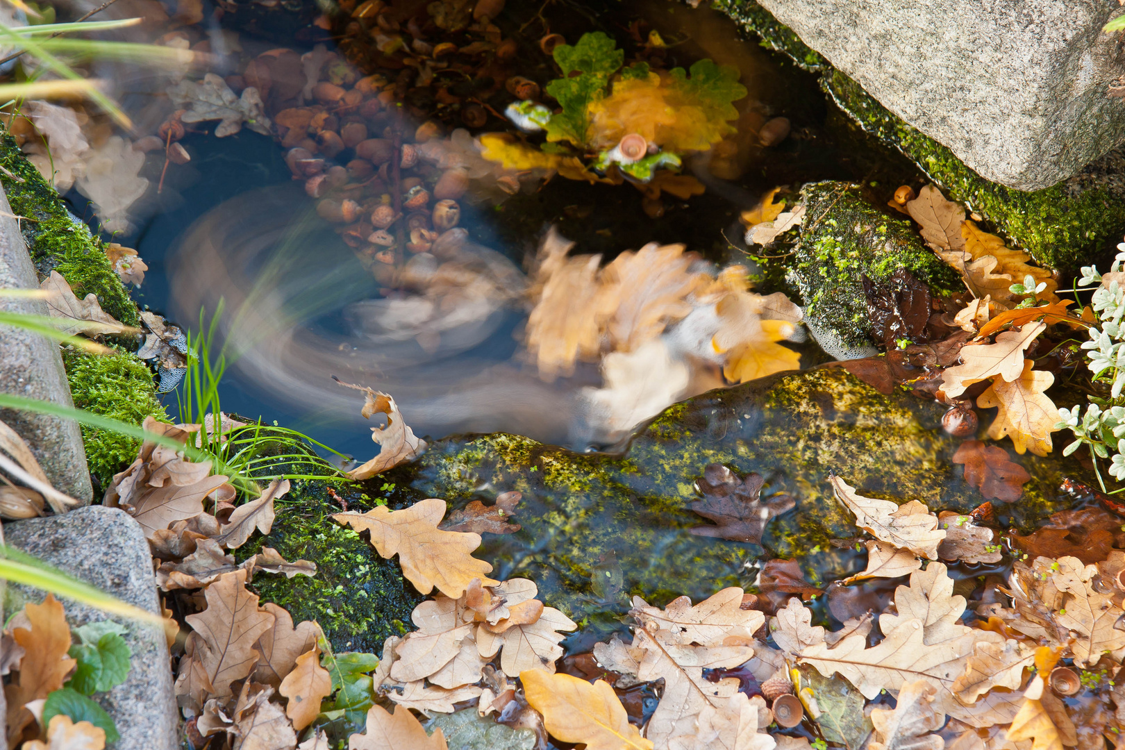
[(316, 576), (260, 575), (253, 589), (263, 603), (288, 609), (294, 622), (317, 621), (339, 651), (382, 653), (387, 636), (413, 630), (411, 611), (423, 597), (403, 579), (396, 560), (379, 557), (367, 534), (361, 537), (332, 519), (343, 508), (328, 489), (343, 497), (350, 510), (369, 510), (375, 504), (361, 485), (291, 484), (274, 506), (277, 518), (269, 535), (255, 536), (237, 550), (237, 558), (245, 560), (262, 546), (272, 546), (286, 560), (314, 561)]

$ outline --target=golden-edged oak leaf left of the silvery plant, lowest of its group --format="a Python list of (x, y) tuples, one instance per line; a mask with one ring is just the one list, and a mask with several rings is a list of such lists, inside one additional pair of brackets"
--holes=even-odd
[(1025, 360), (1023, 372), (1011, 382), (994, 378), (978, 397), (976, 406), (1000, 408), (988, 428), (989, 437), (1000, 440), (1007, 435), (1017, 453), (1030, 450), (1035, 455), (1046, 455), (1052, 448), (1051, 433), (1056, 432), (1059, 408), (1043, 391), (1054, 382), (1054, 376), (1032, 370), (1033, 364), (1032, 360)]

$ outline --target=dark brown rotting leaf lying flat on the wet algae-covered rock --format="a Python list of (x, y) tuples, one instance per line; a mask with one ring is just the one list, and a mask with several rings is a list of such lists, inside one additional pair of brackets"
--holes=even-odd
[(792, 509), (796, 501), (789, 495), (775, 495), (762, 501), (765, 479), (750, 473), (746, 479), (720, 463), (708, 464), (699, 480), (702, 500), (692, 503), (692, 510), (716, 522), (714, 526), (695, 526), (696, 536), (714, 536), (734, 542), (762, 543), (762, 533), (774, 516)]

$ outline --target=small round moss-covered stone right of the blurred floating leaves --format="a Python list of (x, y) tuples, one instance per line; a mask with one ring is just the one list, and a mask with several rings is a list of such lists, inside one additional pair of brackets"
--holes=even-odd
[(872, 206), (858, 186), (817, 182), (801, 191), (806, 217), (788, 257), (763, 263), (786, 269), (806, 319), (852, 345), (872, 342), (862, 279), (875, 283), (909, 270), (939, 293), (964, 290), (957, 273), (922, 243), (914, 224)]

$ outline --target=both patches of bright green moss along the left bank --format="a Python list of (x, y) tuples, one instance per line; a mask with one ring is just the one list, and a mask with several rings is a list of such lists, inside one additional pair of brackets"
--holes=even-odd
[[(0, 184), (19, 217), (35, 269), (43, 279), (57, 271), (74, 293), (93, 293), (101, 308), (127, 325), (140, 325), (136, 304), (114, 272), (101, 241), (66, 210), (55, 189), (28, 162), (15, 139), (0, 132)], [(140, 425), (146, 416), (166, 419), (148, 367), (124, 349), (109, 356), (64, 351), (74, 405)], [(140, 441), (82, 427), (91, 473), (102, 484), (136, 457)]]

